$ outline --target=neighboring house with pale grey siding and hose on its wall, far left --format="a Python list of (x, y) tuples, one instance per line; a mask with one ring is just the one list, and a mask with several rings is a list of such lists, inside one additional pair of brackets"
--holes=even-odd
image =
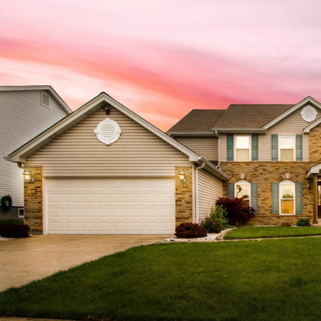
[(13, 202), (9, 211), (0, 207), (0, 219), (23, 218), (23, 169), (4, 157), (72, 110), (51, 86), (0, 86), (0, 111), (0, 198)]

